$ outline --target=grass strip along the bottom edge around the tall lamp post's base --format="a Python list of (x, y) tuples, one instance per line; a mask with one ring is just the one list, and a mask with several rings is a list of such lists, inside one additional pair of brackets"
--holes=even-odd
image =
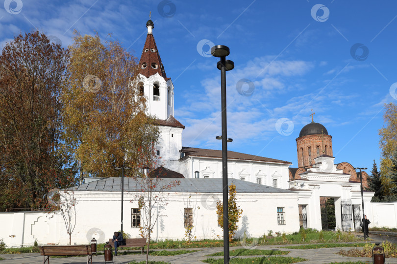
[[(289, 264), (289, 263), (297, 263), (306, 261), (306, 259), (302, 258), (291, 258), (291, 257), (262, 257), (262, 258), (233, 258), (230, 259), (231, 264)], [(208, 258), (203, 260), (202, 262), (210, 263), (210, 264), (223, 264), (223, 259), (214, 259)]]

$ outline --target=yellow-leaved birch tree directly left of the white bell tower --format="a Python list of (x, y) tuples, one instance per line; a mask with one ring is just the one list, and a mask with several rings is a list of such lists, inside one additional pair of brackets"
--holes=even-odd
[(137, 92), (137, 59), (116, 41), (74, 32), (69, 46), (64, 105), (64, 151), (83, 176), (119, 176), (127, 164), (136, 174), (151, 155), (159, 130)]

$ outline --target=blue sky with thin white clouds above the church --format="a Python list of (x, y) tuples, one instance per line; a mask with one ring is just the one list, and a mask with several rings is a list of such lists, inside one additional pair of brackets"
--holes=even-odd
[(76, 29), (118, 40), (138, 58), (151, 11), (183, 146), (221, 149), (220, 71), (208, 52), (223, 44), (235, 63), (226, 77), (229, 150), (297, 166), (296, 138), (313, 109), (336, 163), (379, 162), (383, 106), (397, 101), (394, 0), (1, 2), (1, 47), (34, 29), (67, 47)]

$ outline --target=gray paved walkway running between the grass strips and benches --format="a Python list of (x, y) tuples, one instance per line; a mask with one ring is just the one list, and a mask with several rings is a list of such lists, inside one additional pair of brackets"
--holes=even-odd
[[(356, 234), (360, 236), (361, 234)], [(389, 237), (389, 236), (377, 236), (370, 233), (370, 237), (372, 239), (371, 242), (382, 242), (383, 240), (388, 240), (390, 242), (397, 242), (397, 237)], [(287, 249), (280, 248), (284, 245), (266, 245), (266, 246), (257, 246), (257, 249), (279, 249), (290, 251), (288, 255), (289, 257), (301, 257), (304, 259), (308, 259), (308, 261), (300, 262), (299, 264), (324, 264), (330, 262), (347, 262), (347, 261), (364, 261), (372, 263), (372, 258), (355, 258), (355, 257), (345, 257), (341, 255), (335, 254), (341, 248), (318, 248), (318, 249)], [(241, 247), (231, 247), (232, 249), (237, 249)], [(348, 250), (348, 248), (343, 248)], [(177, 250), (177, 249), (170, 249)], [(189, 250), (189, 249), (188, 249)], [(222, 247), (212, 247), (212, 248), (192, 248), (191, 250), (200, 250), (198, 252), (192, 252), (183, 255), (176, 255), (172, 257), (165, 256), (149, 256), (149, 260), (152, 261), (164, 261), (172, 264), (203, 264), (201, 260), (205, 260), (208, 258), (206, 255), (223, 251)], [(0, 257), (4, 258), (4, 261), (0, 261), (0, 264), (31, 264), (31, 263), (43, 263), (43, 256), (40, 256), (39, 253), (27, 253), (27, 254), (3, 254)], [(240, 258), (249, 258), (255, 256), (240, 256)], [(213, 257), (213, 258), (222, 258), (222, 257)], [(126, 264), (132, 261), (144, 261), (145, 255), (119, 255), (114, 257), (114, 263), (116, 264)], [(72, 258), (59, 258), (59, 259), (50, 259), (51, 264), (85, 264), (86, 257), (72, 257)], [(104, 256), (93, 256), (94, 264), (103, 264)], [(387, 258), (387, 264), (397, 264), (397, 258)]]

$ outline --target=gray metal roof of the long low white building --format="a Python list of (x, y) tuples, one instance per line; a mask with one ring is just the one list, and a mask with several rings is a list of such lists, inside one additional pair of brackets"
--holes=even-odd
[[(75, 187), (69, 188), (74, 191), (105, 191), (105, 192), (120, 192), (121, 191), (121, 178), (109, 177), (102, 178), (96, 181), (91, 181)], [(124, 191), (126, 192), (139, 192), (142, 190), (142, 178), (124, 178)], [(222, 178), (161, 178), (158, 181), (158, 186), (169, 186), (175, 181), (179, 184), (172, 186), (164, 192), (197, 192), (197, 193), (222, 193)], [(261, 185), (249, 181), (239, 179), (228, 179), (229, 184), (236, 185), (237, 193), (290, 193), (296, 192), (274, 188), (272, 186)], [(156, 191), (160, 188), (157, 187)]]

